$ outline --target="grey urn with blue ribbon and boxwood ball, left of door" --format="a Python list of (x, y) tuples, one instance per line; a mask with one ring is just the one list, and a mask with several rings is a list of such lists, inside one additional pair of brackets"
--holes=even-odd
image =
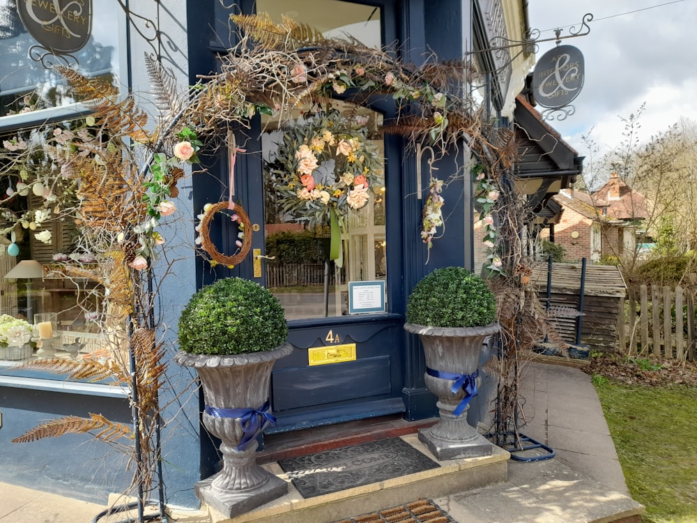
[(291, 354), (283, 309), (266, 289), (225, 278), (191, 298), (179, 319), (174, 361), (196, 370), (204, 392), (204, 427), (220, 438), (222, 470), (194, 486), (196, 496), (236, 517), (288, 492), (256, 464), (257, 437), (275, 423), (269, 383), (275, 361)]

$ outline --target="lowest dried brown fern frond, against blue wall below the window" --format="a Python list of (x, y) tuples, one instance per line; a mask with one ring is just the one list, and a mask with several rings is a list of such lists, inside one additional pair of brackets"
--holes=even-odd
[(94, 437), (107, 442), (118, 438), (132, 437), (132, 430), (128, 425), (109, 421), (101, 414), (90, 413), (90, 418), (66, 416), (65, 418), (50, 420), (25, 432), (22, 436), (16, 437), (12, 442), (27, 443), (43, 438), (59, 437), (63, 436), (63, 434), (85, 434), (95, 430), (100, 430), (100, 432), (94, 434)]

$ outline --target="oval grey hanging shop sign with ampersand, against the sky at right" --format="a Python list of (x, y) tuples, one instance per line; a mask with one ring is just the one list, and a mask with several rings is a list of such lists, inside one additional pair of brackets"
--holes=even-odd
[(579, 96), (583, 88), (583, 54), (573, 45), (558, 45), (542, 55), (533, 72), (535, 101), (559, 108)]

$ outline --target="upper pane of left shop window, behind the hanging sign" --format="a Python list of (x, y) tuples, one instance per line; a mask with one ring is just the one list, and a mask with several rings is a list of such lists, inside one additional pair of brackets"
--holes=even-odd
[[(94, 2), (93, 12), (88, 3), (74, 4), (56, 15), (53, 2), (0, 1), (0, 127), (75, 112), (80, 100), (52, 70), (56, 64), (114, 86), (125, 84), (123, 10), (115, 1)], [(49, 51), (61, 43), (66, 52)]]

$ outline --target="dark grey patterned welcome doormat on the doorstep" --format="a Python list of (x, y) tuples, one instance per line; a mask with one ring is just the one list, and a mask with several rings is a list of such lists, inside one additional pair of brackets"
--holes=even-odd
[(278, 464), (305, 499), (441, 466), (399, 438), (292, 457)]

